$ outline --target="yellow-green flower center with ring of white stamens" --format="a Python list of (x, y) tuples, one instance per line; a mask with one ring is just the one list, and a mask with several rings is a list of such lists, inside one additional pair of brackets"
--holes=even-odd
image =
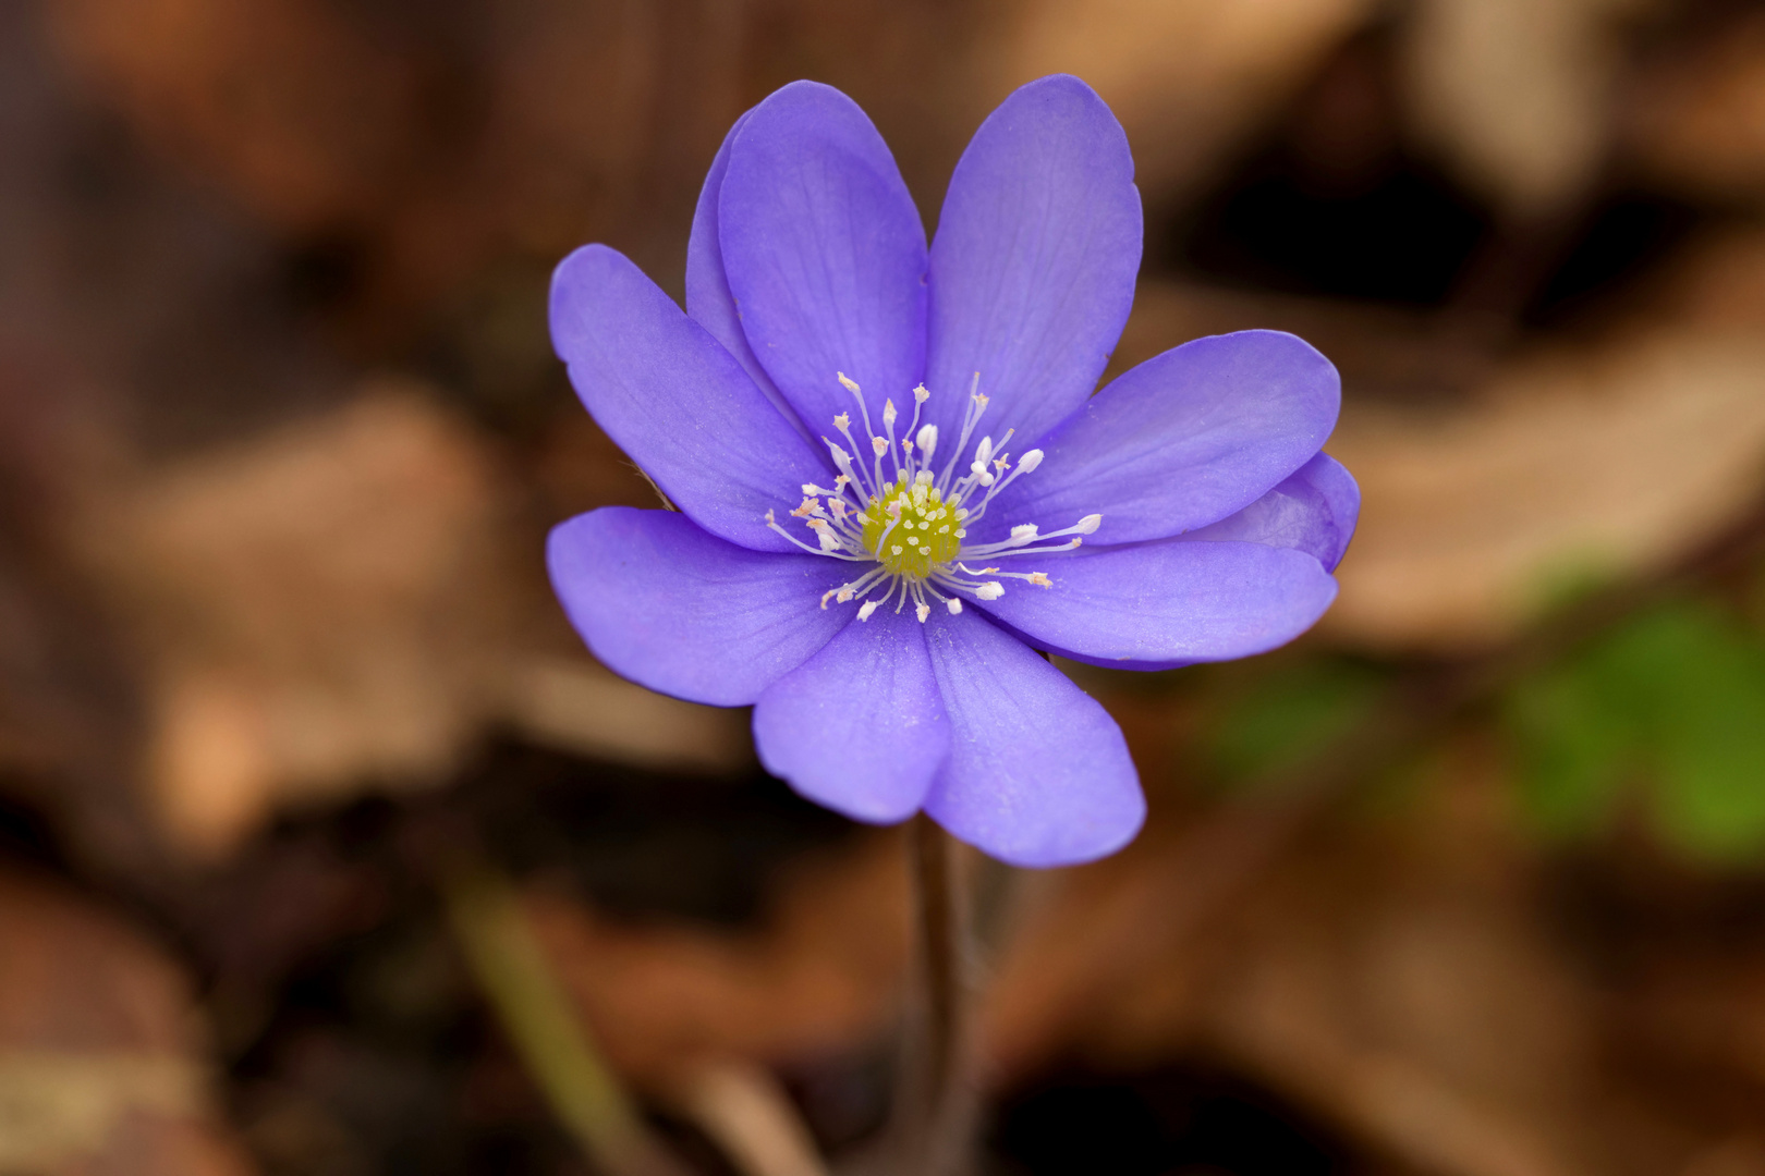
[[(1082, 543), (1080, 536), (1091, 534), (1103, 522), (1103, 515), (1085, 515), (1071, 527), (1050, 532), (1041, 532), (1036, 524), (1025, 522), (1011, 527), (1010, 536), (995, 543), (967, 541), (969, 527), (981, 520), (994, 497), (1041, 465), (1041, 450), (1031, 450), (1017, 458), (1013, 467), (1011, 455), (1004, 451), (1011, 441), (1011, 430), (1006, 430), (997, 446), (992, 437), (981, 437), (965, 473), (957, 474), (957, 467), (962, 465), (960, 458), (969, 448), (969, 437), (974, 434), (981, 413), (987, 411), (987, 397), (978, 391), (980, 379), (980, 372), (976, 372), (957, 451), (941, 473), (934, 473), (937, 425), (920, 427), (920, 409), (932, 397), (925, 384), (913, 390), (913, 421), (907, 425), (905, 435), (897, 441), (895, 421), (900, 420), (900, 414), (895, 411), (895, 402), (884, 400), (882, 404), (882, 434), (879, 435), (870, 427), (870, 411), (865, 407), (858, 384), (840, 376), (840, 384), (858, 402), (860, 427), (865, 430), (867, 444), (860, 444), (852, 437), (851, 414), (840, 413), (833, 418), (833, 428), (852, 446), (852, 451), (822, 437), (840, 476), (833, 480), (831, 488), (805, 485), (803, 502), (791, 511), (791, 517), (801, 518), (803, 525), (815, 536), (815, 545), (810, 547), (785, 531), (775, 513), (766, 511), (766, 525), (805, 552), (865, 564), (861, 575), (822, 594), (822, 608), (828, 607), (830, 599), (842, 605), (863, 599), (858, 607), (858, 619), (868, 621), (877, 608), (890, 601), (895, 601), (895, 612), (913, 601), (914, 615), (923, 624), (932, 615), (934, 599), (957, 614), (962, 612), (964, 596), (974, 599), (1004, 596), (1004, 584), (976, 577), (1008, 577), (1036, 587), (1054, 587), (1054, 580), (1041, 571), (971, 568), (969, 561), (1070, 552)], [(868, 462), (865, 450), (870, 451)], [(888, 460), (886, 471), (884, 458)], [(1063, 536), (1071, 538), (1066, 543), (1038, 547), (1043, 540)]]

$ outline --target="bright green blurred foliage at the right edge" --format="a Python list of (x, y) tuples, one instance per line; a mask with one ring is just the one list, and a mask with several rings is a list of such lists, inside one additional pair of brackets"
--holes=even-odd
[(1649, 607), (1504, 700), (1523, 811), (1590, 836), (1629, 802), (1675, 848), (1765, 848), (1765, 640), (1696, 599)]

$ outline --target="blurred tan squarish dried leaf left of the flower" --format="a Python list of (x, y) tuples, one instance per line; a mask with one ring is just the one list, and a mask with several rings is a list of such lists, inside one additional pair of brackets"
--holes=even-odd
[(496, 524), (480, 444), (395, 386), (99, 502), (81, 545), (148, 659), (175, 837), (222, 852), (277, 802), (450, 769), (503, 644)]

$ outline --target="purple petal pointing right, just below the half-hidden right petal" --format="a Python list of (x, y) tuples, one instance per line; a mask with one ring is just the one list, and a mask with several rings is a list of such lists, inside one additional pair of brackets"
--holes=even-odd
[(1040, 566), (1054, 587), (1008, 587), (983, 608), (1031, 644), (1096, 665), (1248, 658), (1294, 640), (1336, 599), (1317, 559), (1260, 543), (1165, 540)]

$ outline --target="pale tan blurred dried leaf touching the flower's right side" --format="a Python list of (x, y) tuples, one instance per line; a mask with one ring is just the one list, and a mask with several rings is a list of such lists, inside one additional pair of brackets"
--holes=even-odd
[(1525, 360), (1460, 409), (1350, 400), (1329, 451), (1361, 481), (1363, 513), (1324, 631), (1479, 645), (1566, 577), (1661, 568), (1753, 506), (1765, 347), (1664, 328)]

